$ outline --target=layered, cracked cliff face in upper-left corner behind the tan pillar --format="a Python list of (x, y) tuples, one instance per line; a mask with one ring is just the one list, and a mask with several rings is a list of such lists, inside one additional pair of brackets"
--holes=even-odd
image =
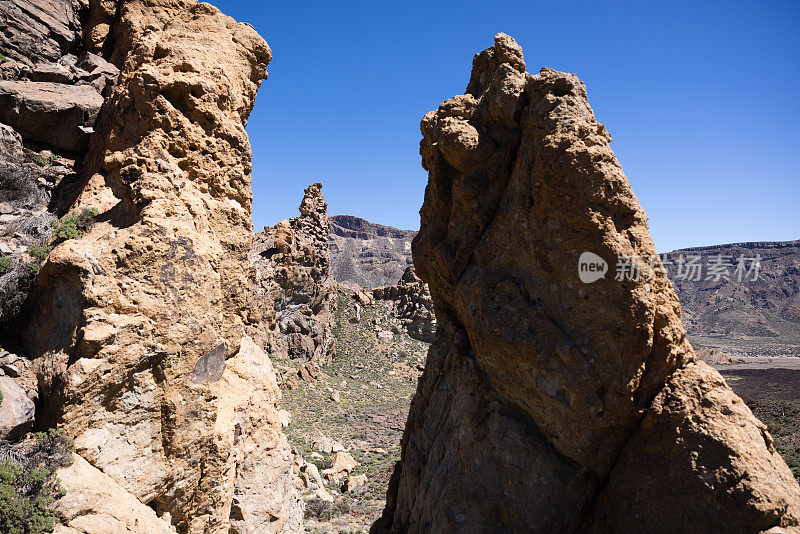
[[(116, 7), (113, 8), (114, 11)], [(84, 43), (81, 17), (97, 6), (75, 0), (0, 3), (0, 337), (17, 321), (59, 193), (80, 169), (117, 67)], [(104, 38), (102, 32), (98, 38)], [(107, 34), (107, 30), (106, 30)]]

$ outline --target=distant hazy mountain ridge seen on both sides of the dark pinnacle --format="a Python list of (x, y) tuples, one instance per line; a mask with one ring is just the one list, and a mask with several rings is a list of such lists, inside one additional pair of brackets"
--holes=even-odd
[[(414, 230), (399, 230), (352, 215), (330, 217), (331, 268), (340, 283), (375, 288), (397, 283), (412, 265)], [(690, 247), (663, 254), (668, 262), (699, 256), (707, 266), (729, 257), (733, 274), (740, 256), (759, 256), (758, 280), (680, 280), (670, 271), (693, 343), (732, 356), (800, 356), (800, 240)]]

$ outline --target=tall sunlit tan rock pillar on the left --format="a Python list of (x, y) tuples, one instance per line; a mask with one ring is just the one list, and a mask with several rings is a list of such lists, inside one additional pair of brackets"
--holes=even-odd
[(121, 73), (70, 210), (97, 216), (50, 253), (30, 299), (37, 424), (58, 423), (179, 532), (297, 530), (280, 393), (245, 335), (244, 125), (270, 50), (189, 0), (125, 2), (113, 33)]

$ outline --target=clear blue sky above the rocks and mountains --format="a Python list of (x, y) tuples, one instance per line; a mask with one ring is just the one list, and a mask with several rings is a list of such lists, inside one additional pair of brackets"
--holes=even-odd
[(256, 229), (321, 181), (331, 214), (416, 229), (419, 121), (497, 32), (586, 83), (660, 251), (800, 238), (800, 2), (215, 2), (273, 51), (248, 123)]

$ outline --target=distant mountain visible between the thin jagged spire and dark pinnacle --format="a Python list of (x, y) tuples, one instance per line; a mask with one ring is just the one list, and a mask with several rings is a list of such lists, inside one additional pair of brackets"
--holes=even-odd
[(411, 265), (417, 233), (371, 223), (352, 215), (330, 218), (331, 273), (352, 289), (395, 283)]

